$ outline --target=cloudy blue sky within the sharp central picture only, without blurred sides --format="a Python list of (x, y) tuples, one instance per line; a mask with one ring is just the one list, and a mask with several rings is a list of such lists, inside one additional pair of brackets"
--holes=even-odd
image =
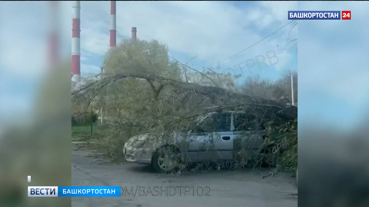
[[(285, 12), (296, 7), (296, 2), (117, 2), (117, 42), (129, 39), (131, 27), (137, 27), (139, 39), (156, 39), (165, 43), (170, 57), (187, 62), (196, 55), (190, 62), (191, 66), (198, 69), (216, 67), (220, 60), (289, 22)], [(107, 2), (83, 1), (81, 4), (82, 75), (99, 72), (108, 50), (109, 10)], [(292, 31), (286, 27), (245, 52), (221, 62), (221, 68), (234, 68), (234, 65), (248, 59), (255, 60), (259, 55), (266, 57), (265, 53), (271, 50), (278, 53), (296, 36), (297, 27)], [(260, 71), (256, 70), (256, 65), (252, 72), (274, 80), (279, 77), (280, 70), (297, 68), (296, 54), (297, 42), (276, 55), (279, 63), (275, 66), (264, 66)], [(246, 68), (244, 70), (247, 71)]]

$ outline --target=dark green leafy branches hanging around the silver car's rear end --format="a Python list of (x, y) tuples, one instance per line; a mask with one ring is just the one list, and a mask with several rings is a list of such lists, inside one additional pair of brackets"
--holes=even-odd
[[(249, 149), (241, 148), (235, 161), (203, 162), (197, 164), (193, 170), (221, 170), (262, 166), (273, 166), (271, 175), (277, 172), (288, 172), (296, 175), (297, 171), (297, 119), (283, 124), (268, 123), (268, 134), (264, 146), (270, 151), (261, 150), (256, 157), (250, 156)], [(266, 163), (268, 159), (268, 163)]]

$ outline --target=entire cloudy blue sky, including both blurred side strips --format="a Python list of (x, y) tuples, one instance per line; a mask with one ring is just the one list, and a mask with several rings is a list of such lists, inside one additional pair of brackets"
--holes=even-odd
[[(52, 15), (45, 1), (0, 5), (0, 117), (9, 119), (32, 112), (47, 69), (45, 39)], [(83, 1), (81, 7), (81, 72), (86, 76), (99, 72), (108, 50), (110, 5)], [(137, 27), (139, 39), (165, 43), (171, 57), (186, 62), (197, 55), (190, 62), (193, 67), (215, 67), (289, 22), (289, 10), (351, 10), (351, 20), (299, 20), (296, 27), (288, 25), (221, 62), (222, 69), (234, 68), (275, 51), (279, 63), (262, 70), (254, 67), (253, 74), (275, 80), (284, 70), (298, 66), (301, 126), (324, 123), (346, 129), (369, 114), (368, 9), (367, 2), (352, 1), (120, 1), (117, 42), (130, 38), (131, 27)], [(59, 2), (56, 28), (64, 59), (70, 57), (71, 10), (71, 2)], [(297, 37), (298, 48), (297, 41), (284, 48)], [(247, 76), (245, 64), (241, 66)]]

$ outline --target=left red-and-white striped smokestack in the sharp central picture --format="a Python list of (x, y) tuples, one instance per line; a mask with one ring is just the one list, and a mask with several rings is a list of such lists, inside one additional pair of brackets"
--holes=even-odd
[(80, 10), (80, 1), (72, 1), (72, 77), (74, 80), (79, 80), (81, 75)]

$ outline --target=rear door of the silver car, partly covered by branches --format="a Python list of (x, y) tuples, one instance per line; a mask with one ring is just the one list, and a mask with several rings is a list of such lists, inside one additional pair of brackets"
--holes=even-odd
[(241, 149), (252, 157), (262, 147), (266, 129), (253, 113), (233, 113), (234, 155)]

